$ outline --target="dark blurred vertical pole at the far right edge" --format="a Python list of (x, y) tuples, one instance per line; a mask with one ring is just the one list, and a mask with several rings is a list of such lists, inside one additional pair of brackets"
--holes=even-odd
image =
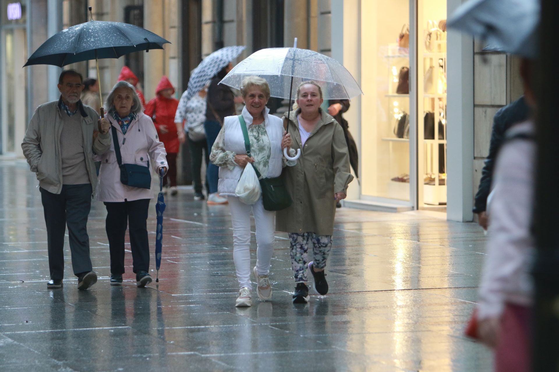
[[(554, 51), (557, 38), (548, 32), (556, 29), (557, 0), (542, 0), (539, 60), (532, 69), (537, 100), (537, 164), (533, 229), (537, 255), (533, 267), (534, 306), (532, 370), (559, 371), (559, 147), (557, 146), (557, 86)], [(555, 47), (553, 46), (555, 45)]]

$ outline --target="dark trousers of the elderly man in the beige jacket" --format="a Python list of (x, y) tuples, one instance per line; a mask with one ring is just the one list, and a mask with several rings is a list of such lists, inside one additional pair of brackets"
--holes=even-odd
[(68, 226), (74, 274), (91, 271), (89, 235), (87, 235), (87, 218), (91, 209), (91, 184), (62, 185), (60, 194), (53, 194), (42, 187), (39, 190), (45, 212), (50, 278), (53, 280), (64, 278), (66, 226)]

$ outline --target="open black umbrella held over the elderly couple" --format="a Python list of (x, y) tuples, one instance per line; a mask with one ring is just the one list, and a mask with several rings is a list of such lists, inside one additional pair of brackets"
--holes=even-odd
[[(91, 13), (91, 7), (89, 7)], [(80, 23), (56, 33), (45, 41), (23, 66), (65, 66), (74, 62), (96, 60), (97, 81), (99, 59), (119, 58), (125, 54), (150, 49), (163, 49), (169, 43), (163, 37), (129, 23), (91, 21)], [(101, 96), (101, 86), (99, 89)], [(103, 99), (101, 98), (101, 102)], [(103, 108), (101, 108), (101, 115)]]

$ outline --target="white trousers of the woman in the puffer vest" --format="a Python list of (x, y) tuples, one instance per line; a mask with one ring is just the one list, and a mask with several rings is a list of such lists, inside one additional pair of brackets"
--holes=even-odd
[(252, 290), (250, 282), (250, 211), (256, 225), (256, 270), (258, 275), (268, 275), (270, 260), (274, 251), (276, 232), (276, 212), (267, 211), (262, 197), (253, 205), (244, 204), (236, 196), (228, 196), (233, 222), (233, 259), (239, 288)]

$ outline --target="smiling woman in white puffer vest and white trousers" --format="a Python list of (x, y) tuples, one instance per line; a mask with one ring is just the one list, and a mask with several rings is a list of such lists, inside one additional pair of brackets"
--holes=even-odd
[[(241, 94), (245, 102), (242, 116), (247, 125), (250, 152), (247, 156), (241, 122), (237, 116), (229, 116), (212, 146), (210, 161), (219, 168), (217, 192), (227, 195), (233, 222), (233, 259), (239, 297), (236, 307), (248, 307), (252, 301), (250, 282), (250, 211), (256, 225), (257, 260), (253, 269), (258, 283), (258, 297), (263, 301), (272, 298), (272, 287), (268, 274), (274, 249), (275, 212), (264, 210), (262, 197), (253, 205), (244, 204), (235, 195), (235, 188), (247, 163), (253, 163), (262, 177), (279, 177), (284, 166), (293, 166), (296, 161), (287, 161), (282, 155), (283, 148), (291, 147), (291, 137), (283, 131), (282, 120), (269, 115), (266, 103), (270, 98), (270, 88), (266, 80), (258, 76), (248, 76), (241, 83)], [(291, 156), (295, 151), (290, 150)]]

